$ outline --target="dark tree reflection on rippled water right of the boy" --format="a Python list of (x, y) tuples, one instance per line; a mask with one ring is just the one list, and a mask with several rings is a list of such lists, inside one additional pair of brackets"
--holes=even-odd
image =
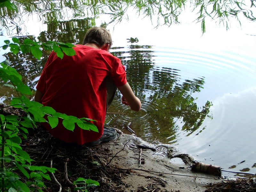
[[(203, 89), (204, 77), (182, 80), (178, 69), (158, 67), (154, 63), (151, 46), (131, 45), (123, 51), (112, 52), (126, 68), (127, 80), (142, 102), (140, 112), (133, 112), (120, 102), (117, 94), (109, 112), (125, 115), (108, 115), (106, 123), (126, 127), (130, 122), (136, 135), (156, 142), (177, 142), (178, 135), (195, 132), (208, 115), (210, 101), (198, 107), (193, 93)], [(202, 130), (205, 129), (202, 128)], [(201, 130), (201, 131), (202, 131)], [(201, 132), (200, 131), (200, 132)]]

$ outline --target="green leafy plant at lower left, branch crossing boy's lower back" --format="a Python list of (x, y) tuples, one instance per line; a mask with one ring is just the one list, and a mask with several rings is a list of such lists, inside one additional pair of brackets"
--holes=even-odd
[[(11, 45), (12, 46), (12, 45)], [(30, 101), (26, 95), (31, 95), (28, 86), (21, 81), (20, 74), (14, 68), (1, 63), (0, 77), (4, 85), (15, 89), (19, 97), (13, 98), (11, 106), (23, 109), (27, 116), (16, 115), (4, 116), (0, 114), (0, 146), (1, 146), (1, 171), (0, 187), (2, 191), (42, 191), (43, 178), (50, 180), (47, 171), (54, 172), (56, 169), (45, 166), (31, 165), (32, 159), (27, 152), (20, 147), (20, 136), (26, 138), (28, 128), (36, 126), (36, 122), (48, 122), (52, 128), (56, 127), (59, 118), (63, 119), (63, 125), (73, 131), (75, 124), (80, 128), (98, 132), (95, 125), (88, 118), (76, 118), (56, 112), (53, 108), (43, 106), (41, 103)], [(2, 109), (3, 110), (3, 109)], [(45, 117), (46, 116), (46, 117)], [(45, 117), (45, 118), (44, 118)], [(22, 173), (28, 181), (22, 181)]]

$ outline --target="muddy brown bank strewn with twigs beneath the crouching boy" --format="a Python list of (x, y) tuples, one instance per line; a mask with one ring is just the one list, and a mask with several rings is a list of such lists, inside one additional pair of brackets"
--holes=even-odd
[[(52, 167), (58, 169), (54, 176), (62, 191), (73, 191), (69, 181), (78, 177), (98, 181), (99, 187), (89, 189), (93, 192), (202, 192), (206, 190), (204, 186), (220, 181), (211, 175), (192, 172), (186, 164), (171, 164), (165, 148), (118, 132), (114, 141), (86, 147), (64, 143), (39, 126), (23, 140), (22, 147), (35, 160), (34, 165), (50, 166), (52, 160)], [(146, 147), (140, 149), (142, 146)], [(65, 179), (65, 164), (68, 179)], [(60, 190), (54, 179), (45, 185), (44, 191)]]

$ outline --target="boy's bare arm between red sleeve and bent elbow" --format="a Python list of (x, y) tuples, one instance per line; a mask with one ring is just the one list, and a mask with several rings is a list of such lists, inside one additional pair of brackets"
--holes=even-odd
[(122, 93), (123, 98), (122, 101), (125, 105), (130, 105), (130, 108), (133, 111), (139, 111), (141, 108), (141, 102), (139, 100), (139, 98), (137, 98), (133, 91), (132, 88), (130, 87), (130, 85), (128, 83), (117, 87), (119, 89), (119, 91)]

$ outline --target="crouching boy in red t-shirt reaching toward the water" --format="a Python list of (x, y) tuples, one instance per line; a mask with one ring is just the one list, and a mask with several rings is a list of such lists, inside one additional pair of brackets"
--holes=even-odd
[(83, 45), (74, 47), (76, 55), (64, 54), (60, 59), (52, 52), (49, 56), (36, 86), (35, 101), (60, 113), (94, 119), (99, 130), (97, 133), (76, 127), (72, 132), (62, 122), (54, 129), (44, 124), (54, 137), (91, 146), (115, 139), (116, 130), (104, 127), (104, 121), (116, 87), (123, 95), (122, 103), (140, 110), (141, 102), (126, 81), (121, 60), (108, 52), (111, 45), (109, 31), (94, 27), (85, 34)]

